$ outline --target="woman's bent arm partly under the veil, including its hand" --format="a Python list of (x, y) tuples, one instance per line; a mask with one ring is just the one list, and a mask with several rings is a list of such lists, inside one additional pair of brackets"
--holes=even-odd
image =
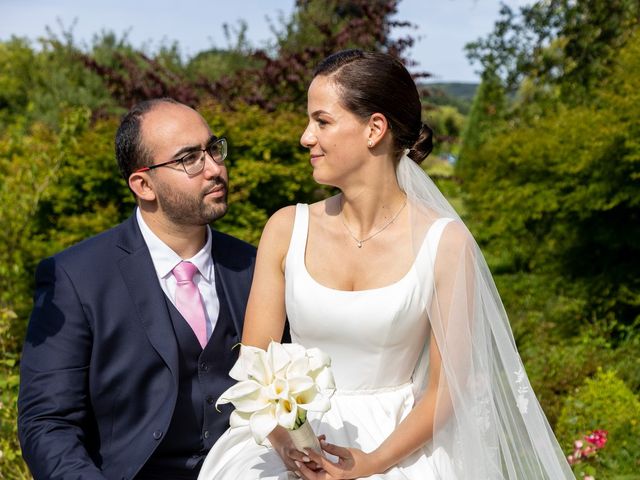
[[(309, 479), (349, 479), (359, 478), (375, 473), (382, 473), (404, 458), (424, 446), (432, 439), (436, 425), (436, 407), (438, 424), (451, 413), (451, 400), (442, 371), (441, 350), (436, 338), (451, 334), (466, 323), (468, 326), (471, 299), (473, 298), (472, 262), (469, 256), (469, 236), (466, 228), (457, 223), (450, 223), (444, 230), (434, 266), (434, 296), (429, 308), (432, 333), (429, 339), (429, 378), (423, 396), (418, 400), (396, 429), (371, 453), (364, 453), (354, 448), (343, 448), (335, 445), (323, 447), (327, 452), (340, 457), (337, 463), (310, 453), (310, 457), (321, 463), (327, 474), (315, 474), (302, 469), (305, 478)], [(462, 318), (464, 317), (464, 318)], [(454, 320), (455, 318), (455, 320)], [(456, 324), (448, 332), (449, 322)], [(435, 323), (435, 324), (434, 324)], [(444, 332), (444, 333), (443, 333)], [(464, 352), (468, 344), (458, 345), (460, 351), (449, 352), (456, 356), (452, 361), (460, 364), (468, 352)], [(451, 361), (451, 360), (450, 360)]]

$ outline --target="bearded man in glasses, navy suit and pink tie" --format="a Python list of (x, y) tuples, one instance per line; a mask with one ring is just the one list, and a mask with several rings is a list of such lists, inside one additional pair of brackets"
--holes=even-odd
[(19, 436), (35, 479), (195, 479), (228, 426), (255, 249), (227, 211), (226, 140), (171, 99), (125, 115), (117, 227), (43, 260), (21, 363)]

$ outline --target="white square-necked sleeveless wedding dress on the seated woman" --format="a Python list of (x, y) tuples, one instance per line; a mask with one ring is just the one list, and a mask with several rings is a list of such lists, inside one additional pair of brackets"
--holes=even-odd
[[(340, 446), (365, 452), (377, 448), (414, 404), (412, 375), (428, 344), (425, 292), (419, 279), (432, 278), (442, 231), (451, 219), (430, 227), (412, 268), (386, 287), (342, 291), (325, 287), (304, 263), (309, 225), (307, 205), (296, 207), (286, 258), (286, 309), (291, 338), (306, 348), (318, 347), (332, 360), (336, 393), (331, 409), (309, 415), (316, 434)], [(418, 269), (430, 271), (418, 271)], [(199, 480), (294, 479), (275, 451), (255, 443), (248, 427), (227, 430), (214, 445)], [(454, 480), (443, 449), (418, 450), (382, 475), (384, 480)]]

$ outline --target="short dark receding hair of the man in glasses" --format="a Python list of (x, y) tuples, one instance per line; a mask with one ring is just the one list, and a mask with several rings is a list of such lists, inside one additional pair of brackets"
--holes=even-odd
[(133, 172), (151, 164), (149, 149), (142, 141), (142, 117), (161, 103), (181, 105), (173, 98), (154, 98), (134, 105), (122, 117), (116, 133), (116, 160), (120, 173), (127, 183)]

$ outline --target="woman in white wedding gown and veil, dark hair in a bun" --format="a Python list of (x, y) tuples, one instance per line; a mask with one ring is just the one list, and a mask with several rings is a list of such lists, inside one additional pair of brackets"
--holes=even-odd
[(242, 342), (332, 359), (326, 454), (278, 427), (228, 430), (200, 479), (573, 479), (531, 389), (489, 270), (419, 167), (432, 148), (416, 86), (393, 57), (326, 58), (308, 92), (314, 179), (340, 193), (267, 223)]

